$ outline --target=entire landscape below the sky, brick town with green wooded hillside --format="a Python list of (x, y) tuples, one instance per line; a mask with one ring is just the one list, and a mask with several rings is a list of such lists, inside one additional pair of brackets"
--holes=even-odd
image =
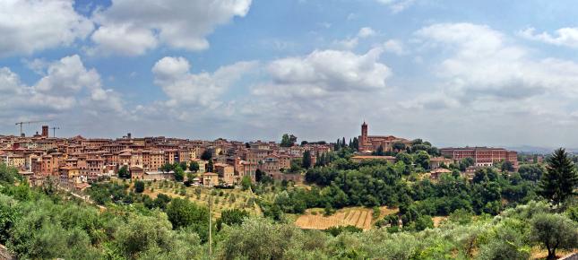
[[(578, 246), (578, 158), (564, 149), (545, 167), (541, 155), (504, 148), (369, 135), (366, 122), (332, 143), (55, 138), (48, 129), (0, 136), (5, 257), (554, 259)], [(46, 221), (30, 226), (37, 218)]]

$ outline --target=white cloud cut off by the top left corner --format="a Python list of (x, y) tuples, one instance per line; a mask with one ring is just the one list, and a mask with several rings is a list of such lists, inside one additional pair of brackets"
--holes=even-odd
[(73, 0), (0, 1), (0, 56), (30, 55), (73, 44), (93, 30)]

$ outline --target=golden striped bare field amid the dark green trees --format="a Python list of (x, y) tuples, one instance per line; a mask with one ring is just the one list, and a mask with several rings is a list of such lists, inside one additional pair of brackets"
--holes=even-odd
[(326, 230), (337, 226), (356, 226), (363, 230), (370, 230), (375, 221), (385, 215), (397, 212), (397, 209), (380, 208), (380, 217), (373, 218), (373, 210), (363, 207), (349, 207), (338, 210), (331, 216), (324, 216), (323, 209), (309, 209), (305, 214), (298, 216), (295, 224), (306, 230)]

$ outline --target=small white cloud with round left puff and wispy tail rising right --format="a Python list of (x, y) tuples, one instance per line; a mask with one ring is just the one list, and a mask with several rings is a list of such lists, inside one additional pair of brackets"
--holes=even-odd
[(166, 56), (152, 67), (152, 74), (155, 84), (170, 98), (169, 106), (215, 107), (220, 105), (220, 95), (255, 66), (254, 62), (238, 62), (222, 66), (212, 74), (191, 74), (191, 65), (184, 57)]

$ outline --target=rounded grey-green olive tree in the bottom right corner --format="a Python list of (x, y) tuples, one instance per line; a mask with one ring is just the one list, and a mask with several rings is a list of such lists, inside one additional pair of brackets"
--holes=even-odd
[(556, 249), (578, 247), (577, 228), (564, 215), (541, 213), (531, 220), (531, 240), (548, 249), (548, 259), (556, 259)]

